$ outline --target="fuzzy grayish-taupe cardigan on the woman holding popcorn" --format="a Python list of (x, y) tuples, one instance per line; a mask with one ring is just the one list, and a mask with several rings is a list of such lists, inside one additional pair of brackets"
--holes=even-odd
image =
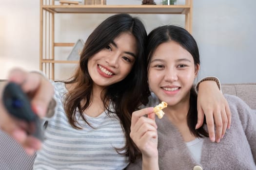
[[(231, 128), (219, 143), (203, 138), (200, 162), (193, 159), (167, 117), (156, 120), (160, 170), (193, 170), (196, 165), (203, 170), (256, 170), (256, 111), (236, 96), (225, 97), (232, 114)], [(126, 170), (141, 170), (141, 159)]]

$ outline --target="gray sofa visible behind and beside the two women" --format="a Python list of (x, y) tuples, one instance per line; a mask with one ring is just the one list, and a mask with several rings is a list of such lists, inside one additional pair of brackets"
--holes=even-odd
[[(256, 110), (256, 83), (222, 85), (223, 94), (236, 95)], [(32, 170), (36, 155), (27, 155), (11, 137), (0, 131), (0, 170)]]

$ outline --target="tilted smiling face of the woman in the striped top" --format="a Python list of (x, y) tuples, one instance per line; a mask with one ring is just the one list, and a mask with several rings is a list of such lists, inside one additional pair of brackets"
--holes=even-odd
[(125, 32), (93, 55), (88, 60), (88, 71), (94, 86), (104, 88), (123, 80), (135, 63), (136, 51), (135, 37)]

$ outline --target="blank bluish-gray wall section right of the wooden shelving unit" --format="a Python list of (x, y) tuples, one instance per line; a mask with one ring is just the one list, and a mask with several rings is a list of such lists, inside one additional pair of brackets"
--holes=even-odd
[(201, 76), (256, 82), (256, 0), (194, 0), (193, 35)]

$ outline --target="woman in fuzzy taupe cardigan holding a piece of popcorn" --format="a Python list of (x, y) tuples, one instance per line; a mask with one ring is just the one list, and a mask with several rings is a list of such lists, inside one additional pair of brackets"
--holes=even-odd
[(175, 25), (158, 27), (148, 35), (147, 54), (148, 83), (158, 98), (150, 106), (168, 106), (162, 119), (152, 107), (133, 113), (130, 136), (142, 155), (127, 170), (256, 170), (256, 114), (241, 99), (225, 95), (232, 125), (221, 141), (210, 140), (207, 120), (195, 129), (200, 58), (193, 36)]

